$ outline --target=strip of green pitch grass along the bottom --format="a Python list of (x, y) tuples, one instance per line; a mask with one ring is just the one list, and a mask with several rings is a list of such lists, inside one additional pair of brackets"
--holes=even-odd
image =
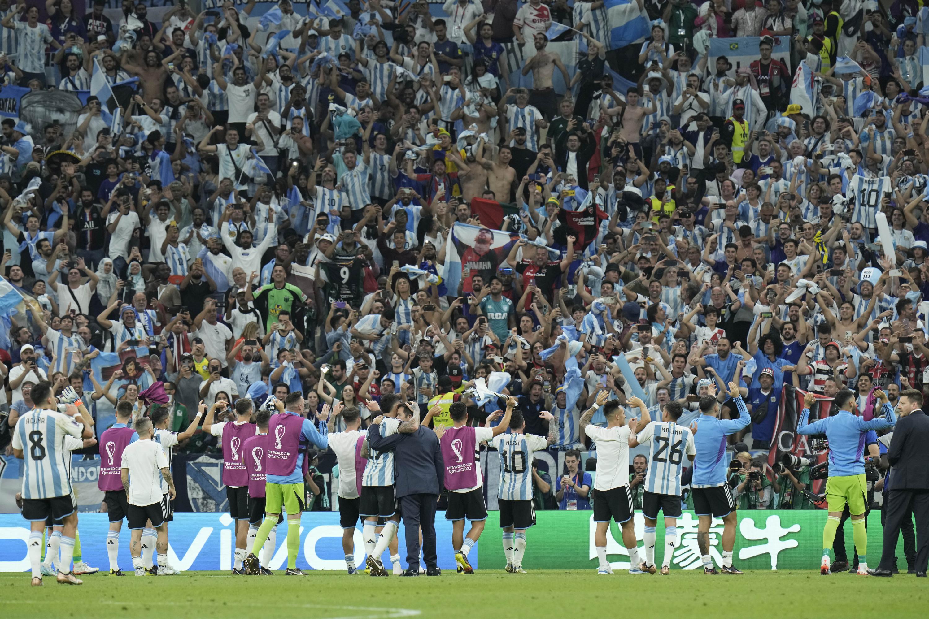
[(0, 574), (0, 605), (6, 617), (190, 617), (196, 619), (312, 617), (632, 616), (921, 617), (929, 614), (929, 579), (914, 574), (874, 578), (818, 571), (754, 571), (741, 576), (600, 576), (594, 571), (530, 570), (528, 574), (478, 571), (439, 577), (387, 578), (309, 572), (303, 577), (232, 576), (190, 572), (177, 576), (85, 577), (82, 587), (46, 576), (30, 587), (29, 574)]

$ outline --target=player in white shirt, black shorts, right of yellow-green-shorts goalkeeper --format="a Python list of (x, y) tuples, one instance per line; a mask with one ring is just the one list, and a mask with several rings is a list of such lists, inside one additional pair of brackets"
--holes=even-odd
[[(335, 419), (342, 416), (345, 421), (345, 431), (334, 432)], [(341, 402), (335, 402), (332, 415), (329, 416), (329, 447), (335, 454), (335, 459), (339, 465), (339, 523), (342, 525), (342, 551), (346, 557), (346, 567), (348, 575), (360, 574), (355, 566), (355, 524), (358, 523), (361, 498), (359, 494), (358, 482), (355, 479), (355, 457), (358, 453), (359, 439), (361, 436), (361, 411), (358, 406), (342, 406)], [(367, 432), (365, 432), (367, 435)], [(367, 537), (365, 537), (367, 540)], [(365, 551), (373, 551), (373, 540), (370, 542), (371, 548)]]

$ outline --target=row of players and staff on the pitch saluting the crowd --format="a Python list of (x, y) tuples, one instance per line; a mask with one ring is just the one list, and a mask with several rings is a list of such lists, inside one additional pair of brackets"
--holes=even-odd
[[(43, 575), (55, 575), (62, 584), (80, 585), (77, 575), (89, 570), (72, 569), (77, 537), (76, 499), (71, 477), (73, 449), (95, 444), (93, 419), (77, 393), (68, 388), (61, 397), (53, 395), (51, 384), (33, 386), (35, 408), (20, 419), (13, 437), (17, 458), (25, 462), (22, 486), (22, 515), (31, 522), (28, 548), (33, 586), (41, 586)], [(855, 451), (858, 437), (872, 429), (892, 427), (891, 406), (882, 398), (883, 419), (863, 422), (842, 415), (845, 407), (855, 407), (854, 399), (842, 392), (836, 403), (840, 414), (808, 423), (807, 396), (799, 432), (825, 434), (832, 443), (831, 462), (836, 476), (827, 486), (830, 520), (824, 537), (834, 535), (833, 512), (841, 514), (845, 503), (858, 510), (854, 492), (860, 459)], [(738, 411), (736, 419), (720, 419), (722, 403)], [(459, 573), (474, 574), (468, 553), (478, 542), (487, 519), (480, 468), (481, 446), (496, 450), (500, 458), (499, 506), (506, 572), (525, 574), (526, 531), (535, 524), (532, 482), (536, 451), (556, 441), (557, 424), (548, 411), (547, 437), (527, 434), (526, 421), (516, 410), (517, 399), (506, 398), (505, 410), (497, 410), (484, 427), (467, 425), (467, 409), (461, 402), (449, 408), (451, 426), (427, 426), (439, 412), (434, 406), (420, 419), (419, 406), (405, 402), (396, 394), (386, 394), (380, 404), (367, 406), (377, 417), (367, 431), (360, 429), (357, 406), (325, 406), (317, 421), (302, 416), (303, 394), (290, 393), (280, 400), (270, 396), (257, 410), (251, 400), (240, 399), (234, 406), (234, 421), (215, 422), (217, 413), (228, 406), (217, 401), (209, 411), (203, 403), (196, 428), (203, 419), (204, 432), (220, 437), (223, 448), (223, 480), (227, 486), (229, 511), (236, 522), (235, 565), (232, 574), (271, 574), (269, 561), (276, 548), (276, 530), (286, 512), (287, 569), (285, 574), (303, 575), (296, 566), (300, 517), (306, 508), (304, 480), (309, 470), (309, 449), (332, 448), (340, 470), (338, 482), (340, 522), (344, 530), (343, 548), (348, 574), (367, 571), (386, 576), (382, 561), (389, 548), (394, 574), (411, 576), (441, 574), (437, 564), (434, 518), (441, 487), (448, 490), (445, 518), (452, 522), (452, 547)], [(741, 574), (732, 564), (736, 503), (726, 483), (726, 436), (739, 432), (750, 421), (739, 385), (730, 382), (727, 393), (715, 389), (700, 397), (700, 417), (689, 428), (676, 424), (682, 406), (670, 402), (661, 409), (661, 420), (652, 420), (648, 406), (637, 397), (628, 406), (638, 408), (640, 417), (626, 420), (618, 400), (608, 400), (608, 392), (596, 394), (593, 406), (581, 417), (581, 429), (595, 444), (594, 484), (595, 548), (599, 561), (597, 574), (612, 574), (607, 559), (609, 522), (622, 528), (622, 542), (630, 558), (630, 574), (655, 574), (655, 527), (659, 511), (665, 523), (667, 548), (661, 574), (670, 574), (676, 541), (676, 519), (681, 516), (681, 475), (685, 456), (693, 462), (690, 482), (693, 504), (699, 518), (698, 544), (704, 574)], [(602, 411), (607, 423), (591, 423)], [(850, 411), (854, 412), (854, 411)], [(170, 474), (170, 458), (178, 439), (185, 437), (165, 429), (164, 408), (150, 411), (149, 417), (133, 421), (133, 408), (127, 402), (116, 407), (117, 422), (100, 434), (101, 466), (98, 485), (105, 493), (110, 518), (106, 545), (110, 574), (124, 575), (117, 561), (119, 534), (125, 519), (131, 531), (131, 551), (136, 575), (177, 574), (167, 562), (168, 522), (172, 520), (171, 499), (176, 496)], [(730, 415), (731, 417), (731, 415)], [(491, 427), (491, 423), (499, 423)], [(344, 428), (335, 432), (335, 428)], [(848, 443), (848, 445), (844, 445)], [(645, 516), (644, 557), (640, 557), (635, 536), (633, 496), (629, 486), (629, 450), (648, 445), (648, 474), (643, 498)], [(845, 448), (847, 446), (847, 448)], [(860, 450), (858, 450), (860, 451)], [(491, 452), (488, 452), (491, 453)], [(847, 475), (847, 477), (843, 477)], [(430, 484), (429, 478), (432, 478)], [(863, 474), (861, 475), (863, 477)], [(424, 499), (425, 497), (425, 499)], [(400, 567), (397, 532), (402, 516), (407, 543), (407, 569)], [(724, 523), (722, 566), (717, 572), (710, 556), (709, 531), (713, 518)], [(355, 564), (353, 536), (362, 520), (366, 570)], [(471, 526), (464, 535), (464, 521)], [(856, 525), (863, 524), (853, 515)], [(42, 561), (43, 533), (48, 530), (46, 561)], [(865, 566), (865, 544), (856, 545), (860, 565)], [(863, 530), (863, 526), (860, 527)], [(421, 541), (422, 540), (422, 541)], [(824, 547), (831, 547), (831, 540)], [(157, 551), (157, 564), (153, 555)], [(259, 559), (260, 558), (260, 559)], [(56, 562), (55, 560), (59, 561)], [(79, 565), (75, 562), (75, 567)], [(80, 562), (83, 565), (83, 561)], [(54, 571), (52, 571), (54, 566)], [(862, 568), (867, 570), (866, 567)], [(828, 550), (824, 550), (821, 572), (829, 573)], [(867, 572), (859, 572), (867, 574)]]

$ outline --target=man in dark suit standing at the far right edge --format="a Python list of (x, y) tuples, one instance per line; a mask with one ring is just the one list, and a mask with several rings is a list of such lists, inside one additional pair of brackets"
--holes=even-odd
[(908, 389), (900, 393), (899, 421), (887, 451), (892, 469), (884, 479), (883, 553), (874, 576), (892, 576), (896, 540), (904, 520), (916, 518), (916, 575), (926, 577), (929, 562), (929, 417), (922, 412), (922, 393)]

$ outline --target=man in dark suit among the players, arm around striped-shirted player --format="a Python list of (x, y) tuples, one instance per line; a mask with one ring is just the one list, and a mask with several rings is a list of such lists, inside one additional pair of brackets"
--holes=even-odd
[(422, 526), (425, 575), (438, 576), (441, 570), (436, 555), (436, 504), (445, 475), (442, 450), (436, 432), (419, 425), (416, 405), (399, 405), (397, 417), (403, 422), (396, 434), (387, 437), (381, 436), (378, 424), (372, 424), (368, 428), (368, 445), (376, 451), (394, 452), (394, 479), (407, 544), (407, 570), (402, 575), (419, 575)]

